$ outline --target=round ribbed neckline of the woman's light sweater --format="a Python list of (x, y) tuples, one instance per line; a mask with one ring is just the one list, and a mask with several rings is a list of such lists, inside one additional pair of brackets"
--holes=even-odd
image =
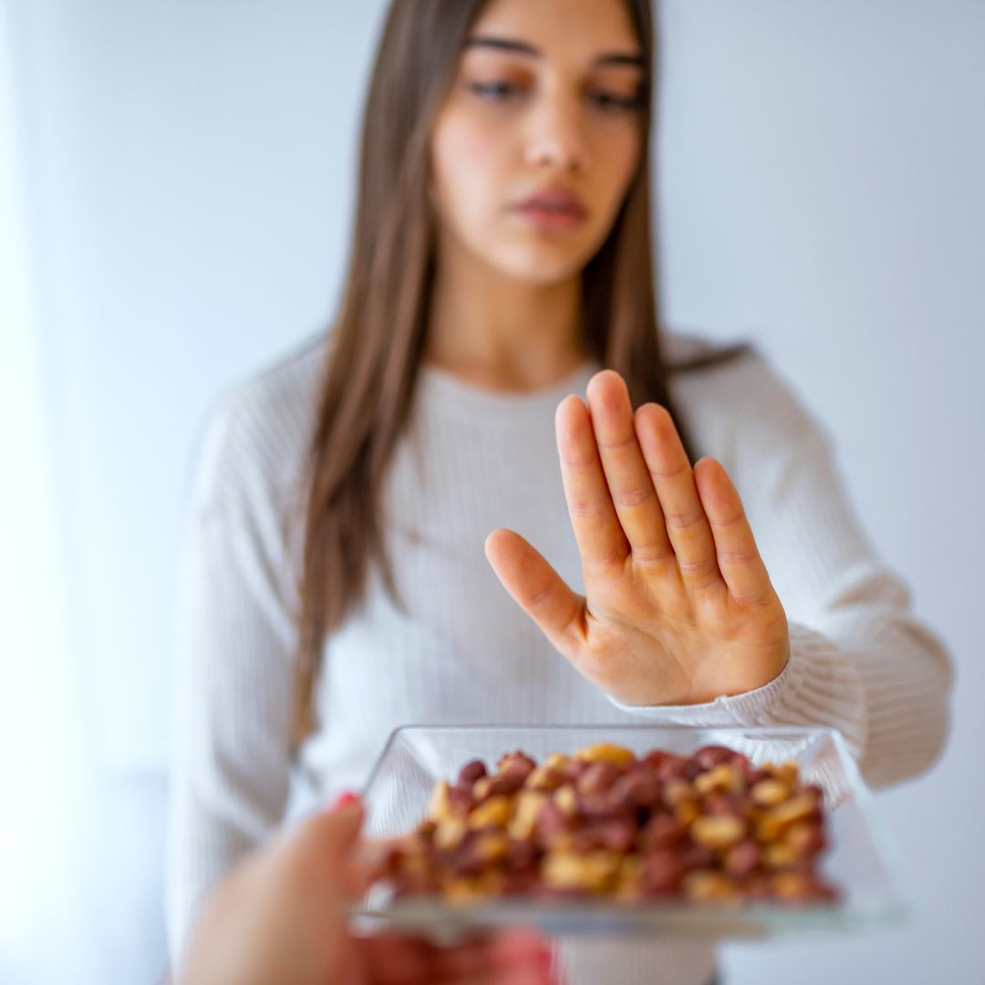
[(470, 383), (448, 369), (422, 362), (419, 385), (428, 404), (445, 407), (456, 414), (523, 415), (552, 411), (569, 393), (584, 395), (588, 381), (602, 367), (594, 359), (586, 359), (556, 383), (535, 390), (495, 390)]

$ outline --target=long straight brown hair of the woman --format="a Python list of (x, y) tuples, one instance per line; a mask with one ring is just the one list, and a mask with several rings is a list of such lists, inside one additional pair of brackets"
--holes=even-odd
[[(436, 232), (427, 197), (429, 136), (486, 2), (394, 0), (376, 51), (352, 252), (307, 463), (296, 741), (312, 727), (311, 690), (325, 636), (361, 600), (371, 563), (397, 599), (380, 491), (408, 420), (427, 331)], [(623, 375), (633, 406), (656, 401), (671, 411), (693, 462), (696, 448), (674, 413), (668, 375), (731, 359), (747, 347), (677, 367), (663, 360), (650, 246), (652, 14), (649, 0), (626, 4), (647, 70), (642, 153), (613, 229), (582, 273), (582, 341), (588, 355)]]

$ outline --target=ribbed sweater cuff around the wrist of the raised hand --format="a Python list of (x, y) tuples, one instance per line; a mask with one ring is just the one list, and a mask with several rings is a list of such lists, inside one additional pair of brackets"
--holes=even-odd
[(632, 705), (609, 699), (624, 712), (668, 725), (823, 725), (838, 729), (856, 758), (865, 738), (865, 701), (858, 671), (838, 644), (808, 626), (791, 623), (790, 658), (761, 688), (704, 704)]

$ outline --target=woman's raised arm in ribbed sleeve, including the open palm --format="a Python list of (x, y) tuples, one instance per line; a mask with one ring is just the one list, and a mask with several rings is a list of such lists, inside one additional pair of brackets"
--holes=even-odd
[[(926, 769), (947, 733), (948, 654), (866, 543), (830, 445), (760, 359), (690, 407), (720, 459), (693, 466), (665, 408), (612, 370), (558, 407), (585, 594), (524, 538), (486, 550), (558, 653), (635, 715), (840, 729), (871, 783)], [(722, 462), (728, 462), (728, 471)]]

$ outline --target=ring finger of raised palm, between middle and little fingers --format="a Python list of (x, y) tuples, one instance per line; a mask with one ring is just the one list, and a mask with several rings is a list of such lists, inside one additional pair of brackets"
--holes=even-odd
[(659, 404), (640, 407), (636, 433), (685, 586), (694, 591), (720, 584), (711, 526), (694, 486), (688, 453), (667, 408)]

